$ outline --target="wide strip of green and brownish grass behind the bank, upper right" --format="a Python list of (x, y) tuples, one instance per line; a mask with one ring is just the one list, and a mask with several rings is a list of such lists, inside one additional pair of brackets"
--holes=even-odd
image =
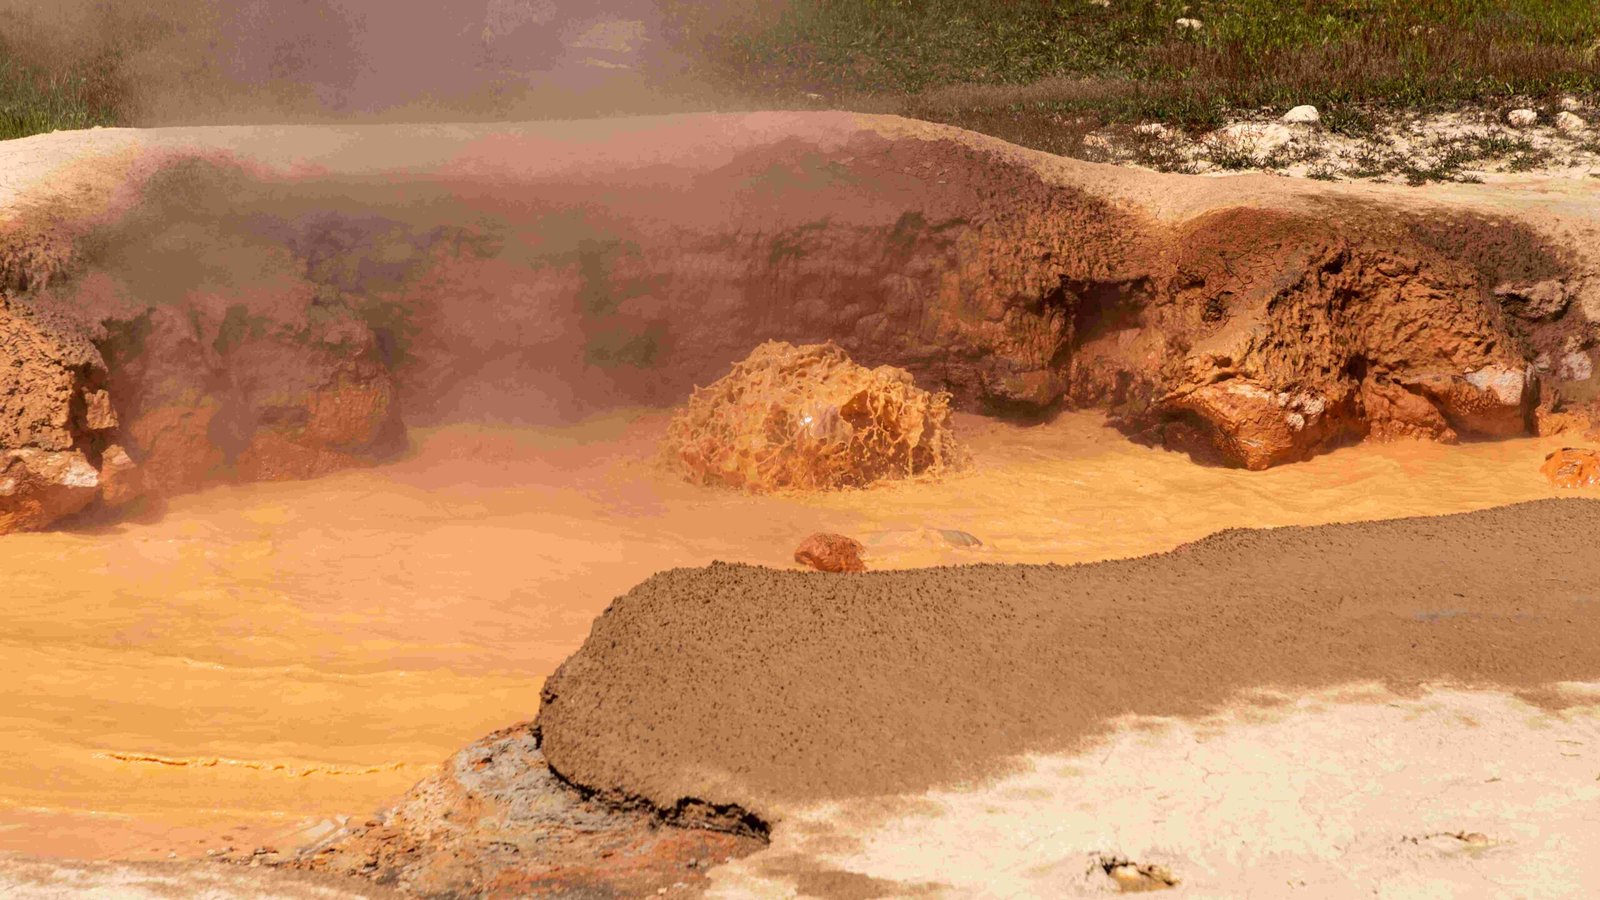
[(1594, 0), (773, 0), (690, 50), (768, 102), (816, 93), (1056, 152), (1114, 122), (1310, 102), (1360, 136), (1373, 109), (1600, 90)]

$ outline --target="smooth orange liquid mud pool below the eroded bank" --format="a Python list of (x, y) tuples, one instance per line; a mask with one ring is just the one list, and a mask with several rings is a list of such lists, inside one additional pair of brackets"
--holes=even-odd
[(938, 482), (746, 496), (662, 469), (666, 423), (418, 431), (379, 468), (0, 540), (0, 852), (315, 839), (533, 717), (594, 617), (653, 572), (794, 565), (816, 530), (861, 538), (880, 569), (1085, 562), (1229, 527), (1560, 493), (1539, 474), (1558, 437), (1365, 445), (1246, 472), (1070, 413), (1032, 428), (958, 416), (974, 463)]

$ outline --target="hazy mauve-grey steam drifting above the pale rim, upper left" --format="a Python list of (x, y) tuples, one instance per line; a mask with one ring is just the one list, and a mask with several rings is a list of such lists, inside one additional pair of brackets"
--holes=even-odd
[(0, 40), (50, 70), (115, 59), (133, 125), (550, 119), (718, 106), (674, 38), (733, 6), (0, 0)]

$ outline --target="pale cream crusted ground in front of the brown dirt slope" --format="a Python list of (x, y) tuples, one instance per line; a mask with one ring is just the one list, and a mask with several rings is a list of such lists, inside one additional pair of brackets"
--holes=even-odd
[(1600, 703), (1354, 685), (1130, 719), (986, 785), (803, 810), (709, 895), (874, 879), (882, 895), (1093, 897), (1154, 874), (1178, 897), (1558, 898), (1597, 884), (1595, 846)]

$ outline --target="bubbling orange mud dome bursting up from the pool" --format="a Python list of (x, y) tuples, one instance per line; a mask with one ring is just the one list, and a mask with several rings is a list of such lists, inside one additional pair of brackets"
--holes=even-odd
[(834, 343), (755, 348), (694, 391), (664, 447), (690, 480), (752, 492), (867, 487), (958, 461), (949, 394), (856, 365)]

